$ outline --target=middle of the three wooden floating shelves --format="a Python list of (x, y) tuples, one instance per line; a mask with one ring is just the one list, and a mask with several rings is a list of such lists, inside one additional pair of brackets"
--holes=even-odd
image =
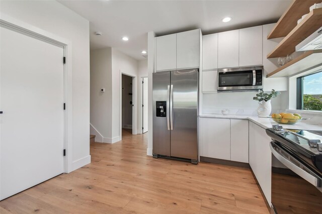
[(278, 45), (267, 58), (283, 57), (295, 52), (295, 46), (322, 26), (322, 8), (313, 9)]

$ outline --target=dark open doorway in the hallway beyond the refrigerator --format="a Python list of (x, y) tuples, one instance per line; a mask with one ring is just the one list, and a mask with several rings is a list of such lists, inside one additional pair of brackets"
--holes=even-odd
[[(122, 74), (122, 130), (133, 134), (133, 77)], [(122, 133), (123, 133), (122, 132)]]

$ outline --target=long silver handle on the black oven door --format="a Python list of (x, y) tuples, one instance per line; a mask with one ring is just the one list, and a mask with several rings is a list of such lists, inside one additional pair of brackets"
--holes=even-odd
[[(272, 144), (274, 144), (275, 146), (277, 146), (277, 145), (273, 141), (271, 141), (271, 143), (270, 143), (270, 149), (271, 149), (273, 155), (277, 158), (277, 160), (279, 160), (287, 168), (289, 168), (290, 170), (295, 172), (297, 175), (301, 176), (303, 179), (305, 179), (310, 184), (312, 184), (316, 187), (322, 186), (322, 179), (318, 175), (316, 175), (314, 172), (312, 172), (307, 167), (303, 166), (303, 164), (301, 162), (299, 162), (298, 160), (296, 160), (295, 158), (292, 158), (292, 162), (290, 160), (288, 160), (287, 158), (285, 158), (282, 154), (280, 154), (278, 151), (276, 151), (273, 148)], [(279, 146), (277, 146), (277, 147), (280, 148), (281, 150), (283, 150), (281, 147), (279, 147)], [(299, 167), (299, 166), (302, 166), (302, 167)]]

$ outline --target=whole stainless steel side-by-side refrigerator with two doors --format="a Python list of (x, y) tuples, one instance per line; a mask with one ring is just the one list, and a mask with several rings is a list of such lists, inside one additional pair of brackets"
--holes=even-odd
[(153, 157), (198, 163), (198, 69), (153, 73)]

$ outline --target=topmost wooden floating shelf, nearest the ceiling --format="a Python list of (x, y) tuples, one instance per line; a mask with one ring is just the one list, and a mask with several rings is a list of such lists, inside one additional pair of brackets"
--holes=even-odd
[(297, 20), (309, 13), (309, 7), (320, 2), (321, 0), (294, 0), (278, 20), (267, 39), (287, 36), (296, 27)]

